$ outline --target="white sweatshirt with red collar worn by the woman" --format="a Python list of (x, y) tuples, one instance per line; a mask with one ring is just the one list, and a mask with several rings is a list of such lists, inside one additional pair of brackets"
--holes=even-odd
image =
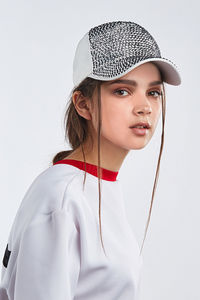
[(143, 258), (127, 221), (118, 172), (60, 160), (22, 199), (3, 257), (0, 300), (137, 300)]

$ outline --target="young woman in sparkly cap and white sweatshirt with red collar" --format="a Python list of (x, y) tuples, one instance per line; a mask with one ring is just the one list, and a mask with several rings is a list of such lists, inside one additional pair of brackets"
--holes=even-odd
[(138, 299), (142, 248), (117, 175), (129, 151), (149, 143), (162, 111), (152, 207), (164, 82), (179, 85), (180, 75), (146, 29), (113, 21), (80, 40), (73, 81), (65, 115), (72, 150), (55, 155), (21, 202), (3, 257), (0, 300)]

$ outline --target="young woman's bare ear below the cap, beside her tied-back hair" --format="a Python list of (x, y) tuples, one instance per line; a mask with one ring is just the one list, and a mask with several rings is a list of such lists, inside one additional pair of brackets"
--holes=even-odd
[(91, 111), (90, 111), (90, 101), (88, 98), (84, 97), (80, 91), (75, 91), (72, 96), (74, 107), (77, 113), (87, 119), (91, 120)]

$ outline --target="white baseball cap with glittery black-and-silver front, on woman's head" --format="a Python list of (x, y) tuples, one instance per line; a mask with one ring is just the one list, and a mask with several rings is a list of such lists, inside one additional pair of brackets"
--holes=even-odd
[(146, 62), (159, 68), (164, 82), (180, 85), (176, 64), (161, 57), (158, 44), (143, 26), (130, 21), (103, 23), (79, 41), (73, 60), (73, 83), (78, 86), (86, 77), (117, 79)]

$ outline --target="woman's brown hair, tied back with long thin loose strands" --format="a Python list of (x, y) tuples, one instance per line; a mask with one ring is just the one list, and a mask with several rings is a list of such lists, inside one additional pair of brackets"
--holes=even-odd
[[(160, 72), (160, 75), (162, 77), (162, 73)], [(92, 136), (89, 133), (88, 130), (88, 122), (85, 118), (83, 118), (82, 116), (80, 116), (74, 106), (73, 103), (73, 93), (75, 91), (80, 91), (81, 94), (84, 97), (88, 97), (91, 100), (92, 103), (92, 97), (93, 94), (95, 92), (95, 90), (97, 89), (98, 92), (98, 191), (99, 191), (99, 225), (100, 225), (100, 237), (101, 237), (101, 243), (104, 249), (104, 245), (103, 245), (103, 240), (102, 240), (102, 231), (101, 231), (101, 187), (100, 187), (100, 180), (102, 177), (102, 174), (100, 175), (101, 172), (101, 167), (100, 167), (100, 131), (101, 131), (101, 94), (100, 94), (100, 86), (101, 86), (102, 81), (96, 80), (96, 79), (92, 79), (92, 78), (85, 78), (77, 87), (75, 87), (70, 94), (70, 101), (69, 101), (69, 106), (66, 110), (65, 116), (64, 116), (64, 126), (65, 126), (65, 139), (69, 140), (69, 143), (72, 147), (72, 150), (68, 150), (68, 151), (61, 151), (59, 153), (57, 153), (53, 160), (52, 163), (55, 163), (59, 160), (62, 160), (63, 158), (65, 158), (66, 156), (68, 156), (69, 154), (71, 154), (74, 150), (76, 150), (79, 146), (81, 146), (82, 149), (82, 153), (83, 153), (83, 158), (84, 158), (84, 163), (86, 163), (85, 161), (85, 153), (84, 153), (84, 149), (82, 144), (86, 141), (87, 138), (91, 139), (91, 142), (93, 144), (93, 139)], [(158, 158), (158, 163), (157, 163), (157, 169), (156, 169), (156, 175), (155, 175), (155, 179), (154, 179), (154, 185), (153, 185), (153, 191), (152, 191), (152, 197), (151, 197), (151, 205), (150, 205), (150, 210), (149, 210), (149, 216), (148, 216), (148, 220), (147, 220), (147, 224), (146, 224), (146, 228), (145, 228), (145, 234), (144, 234), (144, 239), (143, 239), (143, 243), (142, 243), (142, 247), (140, 250), (140, 254), (142, 252), (142, 248), (143, 248), (143, 244), (144, 244), (144, 240), (146, 238), (146, 233), (147, 233), (147, 229), (148, 229), (148, 224), (150, 221), (150, 215), (151, 215), (151, 210), (152, 210), (152, 204), (153, 204), (153, 199), (154, 199), (154, 195), (155, 195), (155, 189), (157, 186), (157, 181), (158, 181), (158, 175), (159, 175), (159, 168), (160, 168), (160, 160), (161, 160), (161, 154), (162, 154), (162, 150), (163, 150), (163, 144), (164, 144), (164, 123), (165, 123), (165, 87), (163, 84), (163, 93), (161, 93), (161, 97), (162, 97), (162, 136), (161, 136), (161, 146), (160, 146), (160, 153), (159, 153), (159, 158)], [(92, 103), (93, 104), (93, 103)], [(86, 164), (85, 164), (85, 174), (84, 174), (84, 182), (83, 182), (83, 186), (85, 185), (85, 178), (86, 178)], [(104, 253), (105, 253), (105, 249), (104, 249)]]

